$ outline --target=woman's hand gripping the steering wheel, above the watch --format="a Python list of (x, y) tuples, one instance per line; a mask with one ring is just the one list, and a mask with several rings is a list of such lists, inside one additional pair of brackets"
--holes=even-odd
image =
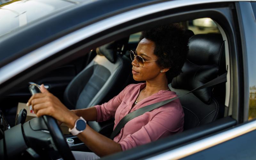
[(44, 85), (40, 86), (42, 93), (36, 93), (28, 100), (27, 106), (31, 105), (37, 117), (48, 115), (73, 128), (76, 120), (79, 118), (76, 114), (64, 106), (60, 100), (50, 93)]

